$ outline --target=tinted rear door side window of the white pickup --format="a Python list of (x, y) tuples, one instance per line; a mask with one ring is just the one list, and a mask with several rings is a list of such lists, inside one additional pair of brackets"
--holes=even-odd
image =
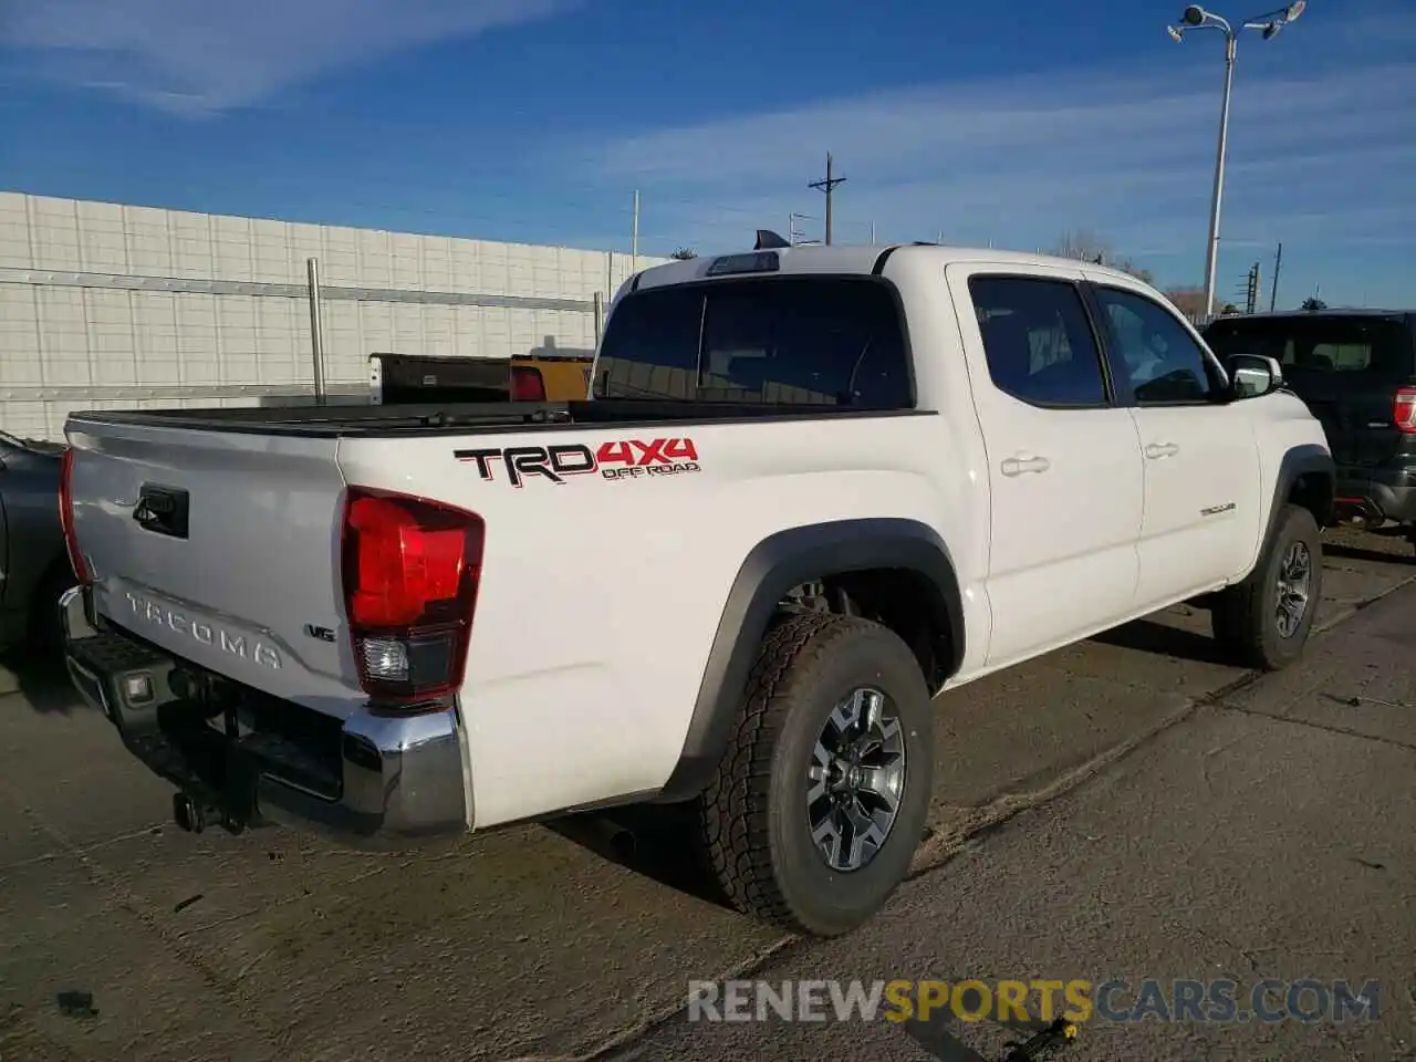
[(994, 385), (1031, 405), (1106, 405), (1102, 357), (1082, 295), (1066, 280), (969, 280)]

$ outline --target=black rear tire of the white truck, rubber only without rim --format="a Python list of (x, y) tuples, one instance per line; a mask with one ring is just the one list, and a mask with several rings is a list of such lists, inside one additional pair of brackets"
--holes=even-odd
[[(821, 728), (852, 690), (884, 692), (901, 722), (905, 782), (885, 843), (864, 867), (821, 858), (807, 818), (807, 767)], [(698, 800), (701, 843), (742, 913), (804, 936), (847, 933), (909, 872), (933, 784), (929, 688), (889, 629), (824, 613), (789, 616), (763, 640), (728, 750)]]

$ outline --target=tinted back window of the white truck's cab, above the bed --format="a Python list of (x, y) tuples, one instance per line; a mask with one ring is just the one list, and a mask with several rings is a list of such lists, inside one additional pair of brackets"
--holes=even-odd
[(596, 398), (905, 409), (899, 309), (868, 278), (773, 278), (636, 292), (610, 314)]

